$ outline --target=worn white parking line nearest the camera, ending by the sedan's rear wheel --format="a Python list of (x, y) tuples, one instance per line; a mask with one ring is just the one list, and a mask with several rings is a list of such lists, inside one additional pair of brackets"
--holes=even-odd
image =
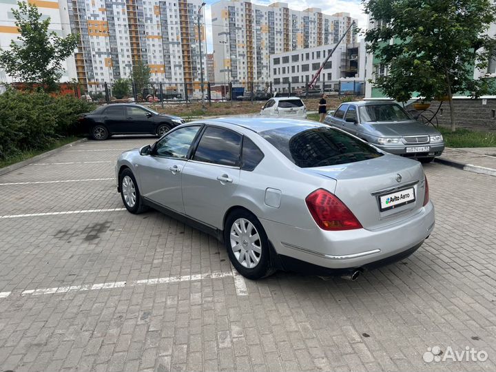
[[(219, 278), (229, 278), (234, 277), (234, 285), (236, 285), (236, 277), (240, 275), (236, 271), (231, 271), (228, 273), (223, 273), (221, 271), (214, 271), (212, 273), (202, 273), (194, 275), (183, 275), (183, 276), (167, 276), (165, 278), (154, 278), (154, 279), (143, 279), (143, 280), (133, 280), (132, 282), (106, 282), (98, 283), (94, 285), (70, 285), (67, 287), (52, 287), (52, 288), (39, 288), (39, 289), (26, 289), (20, 293), (21, 296), (42, 296), (54, 293), (68, 293), (74, 291), (96, 291), (99, 289), (114, 289), (114, 288), (129, 288), (136, 287), (138, 285), (159, 285), (168, 284), (176, 282), (193, 282), (196, 280), (204, 280), (207, 278), (219, 279)], [(244, 283), (244, 280), (243, 280)], [(12, 292), (0, 292), (0, 298), (8, 298)], [(238, 296), (247, 296), (248, 292), (245, 286), (244, 291), (239, 293), (236, 287), (236, 293)]]

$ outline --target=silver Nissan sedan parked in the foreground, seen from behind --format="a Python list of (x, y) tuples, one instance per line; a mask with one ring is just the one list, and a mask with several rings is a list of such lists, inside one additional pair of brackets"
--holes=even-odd
[(412, 254), (434, 228), (422, 165), (311, 121), (180, 125), (123, 152), (128, 211), (163, 211), (216, 236), (243, 276), (276, 269), (355, 279)]

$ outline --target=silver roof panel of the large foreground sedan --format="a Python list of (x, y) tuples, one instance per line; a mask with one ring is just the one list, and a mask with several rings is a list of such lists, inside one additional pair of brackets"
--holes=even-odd
[(256, 133), (260, 133), (265, 130), (276, 130), (279, 128), (292, 127), (292, 126), (304, 126), (304, 127), (328, 126), (322, 123), (318, 123), (316, 121), (309, 121), (303, 119), (301, 120), (287, 119), (287, 118), (266, 118), (263, 116), (252, 117), (252, 118), (237, 118), (237, 117), (215, 118), (209, 120), (209, 123), (238, 125), (239, 127), (244, 127)]

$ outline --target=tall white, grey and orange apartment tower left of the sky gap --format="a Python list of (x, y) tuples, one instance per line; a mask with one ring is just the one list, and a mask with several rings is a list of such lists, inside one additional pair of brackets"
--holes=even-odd
[(200, 34), (197, 28), (201, 0), (68, 3), (71, 30), (80, 36), (75, 54), (80, 83), (91, 88), (129, 78), (133, 66), (142, 62), (149, 66), (152, 82), (165, 83), (165, 91), (183, 93), (185, 83), (189, 94), (199, 89), (200, 39), (205, 43), (203, 10)]

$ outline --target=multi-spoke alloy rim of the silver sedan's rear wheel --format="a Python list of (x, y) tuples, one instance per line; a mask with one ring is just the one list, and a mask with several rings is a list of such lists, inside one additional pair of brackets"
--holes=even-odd
[(238, 262), (253, 269), (262, 256), (262, 241), (256, 227), (246, 218), (238, 218), (231, 226), (231, 249)]

